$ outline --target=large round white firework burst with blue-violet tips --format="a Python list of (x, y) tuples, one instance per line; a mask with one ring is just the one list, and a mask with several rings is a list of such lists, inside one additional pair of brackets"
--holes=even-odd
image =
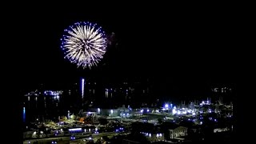
[(84, 69), (97, 66), (106, 53), (107, 39), (102, 27), (91, 22), (77, 22), (64, 30), (61, 48), (71, 63)]

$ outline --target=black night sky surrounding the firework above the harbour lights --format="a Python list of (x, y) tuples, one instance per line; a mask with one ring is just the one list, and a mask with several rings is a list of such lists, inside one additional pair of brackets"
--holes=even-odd
[[(25, 15), (25, 86), (80, 76), (150, 77), (161, 89), (181, 91), (234, 83), (236, 31), (230, 11), (35, 8)], [(93, 70), (77, 69), (60, 50), (63, 30), (81, 21), (96, 22), (107, 34), (114, 32), (118, 42)]]

